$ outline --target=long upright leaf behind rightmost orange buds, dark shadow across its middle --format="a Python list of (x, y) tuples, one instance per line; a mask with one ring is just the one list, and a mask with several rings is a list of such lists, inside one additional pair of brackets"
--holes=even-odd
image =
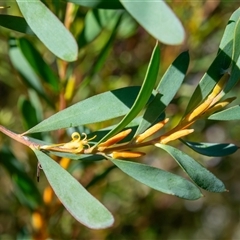
[(218, 55), (194, 91), (187, 106), (186, 114), (196, 108), (208, 96), (221, 76), (228, 70), (232, 61), (234, 30), (239, 17), (240, 9), (236, 10), (230, 17), (219, 45)]

